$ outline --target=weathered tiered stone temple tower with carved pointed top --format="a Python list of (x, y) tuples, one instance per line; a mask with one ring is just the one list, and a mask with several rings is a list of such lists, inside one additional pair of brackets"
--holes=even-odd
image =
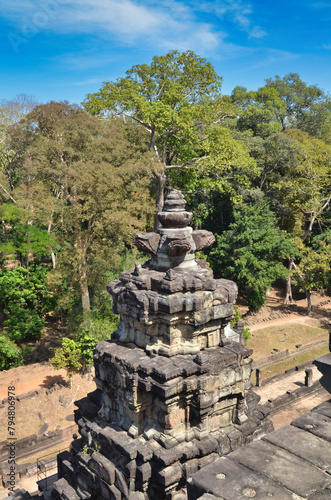
[(58, 457), (54, 498), (185, 499), (190, 474), (272, 430), (251, 351), (226, 333), (237, 286), (195, 259), (213, 234), (189, 227), (180, 191), (158, 218), (135, 237), (148, 262), (107, 287), (120, 328), (96, 346), (97, 389), (76, 402), (81, 438)]

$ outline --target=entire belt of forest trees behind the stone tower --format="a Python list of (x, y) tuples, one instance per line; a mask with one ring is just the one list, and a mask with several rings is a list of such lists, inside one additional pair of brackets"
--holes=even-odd
[[(221, 93), (191, 51), (154, 57), (105, 82), (83, 108), (0, 101), (0, 368), (16, 366), (47, 324), (69, 376), (118, 326), (107, 281), (141, 256), (153, 197), (181, 189), (207, 259), (251, 310), (275, 280), (311, 308), (330, 289), (331, 100), (299, 75)], [(285, 293), (286, 292), (286, 293)]]

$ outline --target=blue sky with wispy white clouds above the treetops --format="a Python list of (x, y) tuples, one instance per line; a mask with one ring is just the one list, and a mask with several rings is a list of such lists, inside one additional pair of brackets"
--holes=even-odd
[(102, 82), (193, 50), (223, 93), (299, 73), (331, 92), (331, 1), (2, 0), (0, 99), (80, 104)]

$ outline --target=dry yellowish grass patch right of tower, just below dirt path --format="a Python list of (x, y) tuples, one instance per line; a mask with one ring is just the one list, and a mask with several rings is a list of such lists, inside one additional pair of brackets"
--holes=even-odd
[(328, 336), (326, 328), (289, 323), (253, 331), (247, 347), (253, 349), (253, 359), (257, 361), (273, 354), (274, 348), (281, 352), (286, 349), (292, 351), (298, 344), (312, 344), (319, 339), (327, 339)]

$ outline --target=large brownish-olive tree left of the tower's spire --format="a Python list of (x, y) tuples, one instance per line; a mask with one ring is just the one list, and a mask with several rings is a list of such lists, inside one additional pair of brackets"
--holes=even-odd
[(78, 106), (51, 102), (27, 115), (12, 141), (24, 144), (24, 182), (15, 193), (57, 236), (57, 272), (77, 283), (89, 309), (92, 265), (109, 266), (109, 253), (114, 264), (148, 225), (146, 138), (120, 120), (100, 121)]

